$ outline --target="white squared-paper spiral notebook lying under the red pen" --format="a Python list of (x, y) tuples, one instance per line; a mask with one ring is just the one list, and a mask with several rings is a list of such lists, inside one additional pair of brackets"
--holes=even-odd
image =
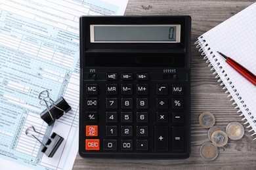
[[(195, 42), (213, 74), (232, 96), (249, 131), (256, 134), (256, 86), (236, 72), (217, 51), (234, 59), (256, 75), (256, 3), (210, 29)], [(256, 138), (255, 138), (256, 139)]]

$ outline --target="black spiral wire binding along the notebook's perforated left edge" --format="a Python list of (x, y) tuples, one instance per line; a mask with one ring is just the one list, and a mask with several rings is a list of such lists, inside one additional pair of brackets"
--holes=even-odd
[[(194, 42), (194, 44), (197, 44), (196, 48), (199, 48), (199, 52), (201, 53), (201, 56), (203, 56), (203, 59), (206, 59), (206, 63), (209, 63), (208, 67), (211, 67), (211, 71), (213, 72), (213, 75), (215, 75), (215, 78), (219, 78), (217, 80), (217, 82), (221, 82), (220, 86), (223, 86), (223, 90), (226, 89), (225, 93), (229, 93), (227, 97), (231, 97), (230, 101), (234, 101), (234, 97), (232, 97), (231, 93), (227, 90), (226, 86), (224, 86), (224, 81), (221, 80), (221, 77), (218, 75), (218, 72), (221, 72), (224, 74), (224, 77), (226, 78), (226, 82), (228, 82), (228, 84), (230, 84), (230, 87), (232, 88), (233, 92), (236, 95), (236, 98), (239, 99), (240, 103), (242, 104), (242, 107), (244, 107), (246, 114), (248, 116), (248, 118), (251, 119), (251, 121), (253, 122), (254, 126), (256, 126), (256, 118), (254, 118), (253, 116), (251, 116), (251, 112), (249, 112), (249, 109), (247, 108), (247, 106), (244, 104), (244, 101), (242, 100), (242, 97), (240, 97), (239, 93), (236, 90), (236, 87), (232, 84), (232, 82), (230, 81), (230, 79), (228, 78), (228, 75), (225, 73), (223, 67), (221, 66), (221, 63), (219, 63), (218, 59), (215, 58), (215, 55), (213, 54), (213, 51), (211, 51), (211, 48), (209, 47), (209, 44), (205, 41), (205, 39), (203, 39), (203, 36), (201, 36), (198, 41)], [(203, 51), (204, 50), (204, 51)], [(213, 67), (212, 63), (210, 62), (210, 59), (213, 59), (217, 65), (217, 69)], [(239, 109), (237, 112), (242, 112), (242, 110), (240, 109), (240, 107), (238, 106), (238, 104), (234, 101), (234, 103), (232, 103), (232, 105), (236, 105), (236, 107), (234, 107), (234, 109)], [(244, 116), (244, 118), (242, 118), (242, 120), (246, 120), (245, 118), (245, 113), (240, 114), (240, 116)], [(248, 121), (246, 121), (244, 124), (249, 124)], [(253, 127), (251, 124), (249, 124), (249, 126), (247, 126), (246, 128), (251, 127), (251, 129), (249, 130), (249, 132), (253, 131)], [(251, 136), (256, 135), (256, 131), (254, 130), (255, 133), (253, 133)], [(256, 137), (253, 139), (255, 140)]]

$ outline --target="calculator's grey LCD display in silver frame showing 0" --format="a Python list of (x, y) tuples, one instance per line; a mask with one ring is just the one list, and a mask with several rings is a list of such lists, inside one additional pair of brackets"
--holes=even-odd
[(91, 25), (91, 42), (180, 42), (181, 25)]

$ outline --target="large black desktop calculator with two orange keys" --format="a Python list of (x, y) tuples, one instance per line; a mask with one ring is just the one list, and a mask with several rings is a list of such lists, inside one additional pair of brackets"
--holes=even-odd
[(190, 16), (81, 16), (79, 154), (190, 156)]

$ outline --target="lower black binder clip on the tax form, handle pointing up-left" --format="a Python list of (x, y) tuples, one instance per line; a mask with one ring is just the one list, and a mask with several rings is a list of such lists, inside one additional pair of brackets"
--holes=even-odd
[[(35, 135), (33, 135), (32, 133), (28, 133), (28, 131), (30, 129), (33, 129), (33, 131), (35, 131), (35, 127), (33, 126), (29, 126), (26, 129), (26, 135), (28, 136), (32, 136), (35, 139), (37, 139), (37, 137), (35, 137)], [(35, 131), (35, 133), (39, 133), (38, 131)], [(44, 135), (43, 133), (39, 133), (40, 135)], [(45, 136), (45, 135), (44, 135)], [(64, 138), (61, 137), (60, 135), (56, 134), (56, 133), (52, 133), (50, 137), (48, 137), (48, 141), (43, 144), (39, 139), (37, 139), (37, 141), (39, 141), (39, 143), (43, 144), (43, 149), (41, 150), (41, 152), (45, 153), (49, 158), (52, 158), (53, 155), (55, 154), (56, 150), (58, 150), (58, 147), (60, 146), (60, 144), (62, 143), (62, 141), (64, 141)]]

